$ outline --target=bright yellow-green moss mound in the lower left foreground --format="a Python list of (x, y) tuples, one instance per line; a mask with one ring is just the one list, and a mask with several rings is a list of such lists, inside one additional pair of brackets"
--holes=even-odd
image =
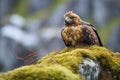
[(79, 75), (73, 74), (61, 65), (25, 66), (10, 71), (1, 78), (4, 78), (4, 80), (80, 80)]

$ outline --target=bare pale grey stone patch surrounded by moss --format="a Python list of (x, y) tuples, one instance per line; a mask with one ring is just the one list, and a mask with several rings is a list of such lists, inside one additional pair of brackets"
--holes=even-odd
[(98, 80), (100, 65), (90, 58), (84, 58), (79, 66), (79, 72), (85, 77), (85, 80)]

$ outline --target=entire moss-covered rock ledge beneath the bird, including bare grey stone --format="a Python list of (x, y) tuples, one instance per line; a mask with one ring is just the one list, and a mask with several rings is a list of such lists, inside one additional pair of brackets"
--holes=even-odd
[(0, 80), (120, 80), (120, 53), (104, 47), (67, 47), (37, 64), (0, 74)]

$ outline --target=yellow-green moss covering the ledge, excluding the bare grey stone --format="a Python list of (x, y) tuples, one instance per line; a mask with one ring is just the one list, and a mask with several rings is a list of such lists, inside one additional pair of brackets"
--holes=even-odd
[(84, 57), (99, 61), (104, 69), (120, 73), (120, 53), (113, 53), (104, 47), (81, 46), (49, 53), (36, 65), (0, 74), (0, 80), (84, 80), (78, 68)]

